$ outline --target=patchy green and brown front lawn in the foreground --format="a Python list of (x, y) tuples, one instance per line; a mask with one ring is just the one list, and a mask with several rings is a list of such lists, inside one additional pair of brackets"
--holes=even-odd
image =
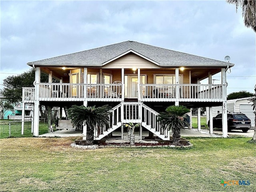
[[(190, 150), (80, 150), (70, 147), (73, 140), (1, 139), (0, 191), (256, 191), (256, 144), (250, 138), (190, 138)], [(223, 187), (222, 179), (251, 184)]]

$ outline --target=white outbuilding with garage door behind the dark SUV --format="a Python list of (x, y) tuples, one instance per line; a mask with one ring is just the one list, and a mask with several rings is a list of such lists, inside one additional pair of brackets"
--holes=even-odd
[[(253, 112), (252, 101), (251, 102), (248, 101), (248, 99), (250, 98), (251, 97), (227, 100), (227, 110), (228, 112), (241, 112), (246, 114), (246, 116), (251, 120), (252, 127), (254, 127), (255, 114)], [(222, 112), (221, 106), (212, 107), (212, 116), (216, 116), (221, 112)], [(206, 120), (208, 122), (209, 113), (206, 113)]]

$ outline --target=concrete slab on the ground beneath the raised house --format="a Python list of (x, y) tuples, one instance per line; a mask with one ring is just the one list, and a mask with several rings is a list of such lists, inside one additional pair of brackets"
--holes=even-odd
[[(125, 135), (128, 133), (124, 132)], [(136, 134), (136, 133), (135, 133)], [(121, 132), (113, 132), (114, 136), (121, 135)], [(170, 136), (172, 133), (170, 133)], [(82, 137), (83, 134), (80, 131), (70, 131), (70, 130), (58, 130), (53, 133), (46, 133), (39, 135), (39, 137)], [(142, 136), (148, 136), (148, 132), (144, 131), (142, 132)], [(198, 132), (197, 130), (189, 130), (189, 129), (182, 129), (181, 130), (181, 136), (182, 137), (222, 137), (221, 135), (218, 134), (209, 134), (207, 130), (201, 130)]]

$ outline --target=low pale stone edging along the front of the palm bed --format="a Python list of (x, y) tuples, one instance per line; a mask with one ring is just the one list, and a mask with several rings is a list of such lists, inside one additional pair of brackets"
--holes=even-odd
[(75, 143), (71, 144), (71, 147), (78, 149), (98, 149), (98, 148), (113, 148), (113, 147), (130, 147), (130, 148), (173, 148), (173, 149), (186, 149), (192, 148), (193, 144), (188, 142), (189, 145), (186, 146), (175, 146), (175, 145), (155, 145), (155, 146), (135, 146), (135, 145), (76, 145)]

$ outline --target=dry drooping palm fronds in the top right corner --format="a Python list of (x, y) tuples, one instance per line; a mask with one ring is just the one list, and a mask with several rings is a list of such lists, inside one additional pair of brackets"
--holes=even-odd
[(256, 1), (255, 0), (226, 0), (230, 4), (236, 5), (236, 12), (238, 7), (242, 8), (242, 16), (244, 18), (244, 25), (251, 27), (256, 32)]

